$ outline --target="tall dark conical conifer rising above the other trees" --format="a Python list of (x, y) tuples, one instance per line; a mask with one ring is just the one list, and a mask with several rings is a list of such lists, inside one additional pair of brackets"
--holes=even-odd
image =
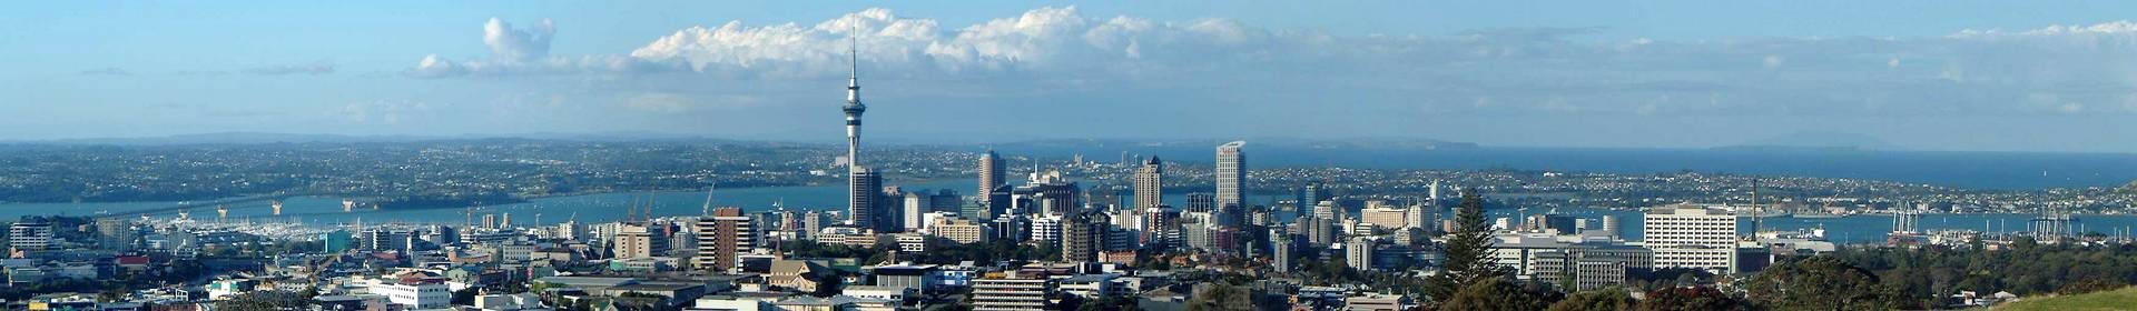
[(1483, 196), (1477, 190), (1462, 190), (1462, 204), (1455, 211), (1455, 232), (1447, 236), (1447, 271), (1432, 277), (1428, 288), (1432, 298), (1447, 298), (1466, 283), (1504, 277), (1507, 266), (1492, 262), (1492, 228), (1483, 219)]

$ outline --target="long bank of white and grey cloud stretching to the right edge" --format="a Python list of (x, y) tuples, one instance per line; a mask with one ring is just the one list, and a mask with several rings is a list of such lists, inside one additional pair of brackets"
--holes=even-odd
[[(2137, 23), (1957, 30), (1917, 38), (1592, 40), (1605, 28), (1344, 36), (1231, 19), (1094, 17), (1034, 9), (970, 26), (868, 9), (814, 23), (680, 28), (618, 53), (551, 55), (553, 21), (483, 23), (489, 55), (423, 55), (408, 75), (603, 75), (729, 81), (902, 75), (940, 87), (1252, 89), (1242, 111), (1340, 94), (1351, 107), (1436, 115), (2071, 115), (2137, 94)], [(652, 79), (648, 79), (652, 81)], [(981, 81), (981, 83), (970, 83)], [(744, 83), (746, 85), (746, 83)], [(1015, 85), (1015, 87), (1002, 87)], [(675, 89), (633, 89), (675, 92)], [(1182, 92), (1173, 92), (1182, 94)], [(2039, 102), (2039, 94), (2056, 96)], [(1710, 98), (1705, 104), (1656, 98)], [(1722, 100), (1727, 98), (1727, 100)], [(1257, 102), (1259, 100), (1259, 102)], [(639, 109), (675, 98), (630, 98)], [(1468, 102), (1468, 104), (1464, 104)], [(1434, 104), (1430, 109), (1410, 109)], [(2092, 107), (2092, 109), (2088, 109)], [(2131, 109), (2120, 109), (2131, 111)]]

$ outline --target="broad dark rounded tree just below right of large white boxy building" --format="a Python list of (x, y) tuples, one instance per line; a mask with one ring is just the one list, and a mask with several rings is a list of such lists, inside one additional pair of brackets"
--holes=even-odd
[(1870, 271), (1831, 256), (1774, 264), (1744, 294), (1769, 309), (1891, 309), (1891, 292)]

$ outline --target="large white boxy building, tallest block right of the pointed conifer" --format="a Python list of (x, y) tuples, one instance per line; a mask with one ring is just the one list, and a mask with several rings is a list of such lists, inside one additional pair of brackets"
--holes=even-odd
[(1654, 207), (1641, 222), (1656, 268), (1735, 273), (1737, 217), (1699, 204)]

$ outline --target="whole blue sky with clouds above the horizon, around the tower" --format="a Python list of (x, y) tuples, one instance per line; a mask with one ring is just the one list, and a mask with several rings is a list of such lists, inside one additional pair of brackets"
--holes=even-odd
[(2137, 2), (6, 2), (0, 141), (2137, 151)]

